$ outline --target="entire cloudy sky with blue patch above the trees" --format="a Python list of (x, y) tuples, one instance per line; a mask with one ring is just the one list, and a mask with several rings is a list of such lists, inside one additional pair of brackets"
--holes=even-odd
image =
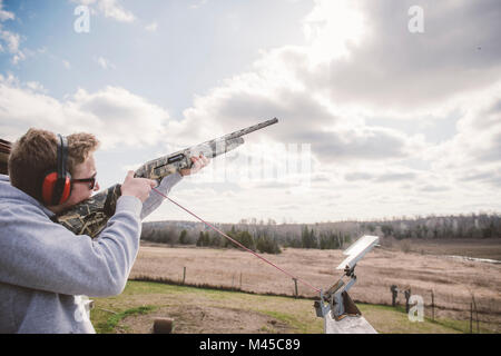
[(220, 222), (499, 212), (500, 18), (499, 0), (0, 0), (0, 137), (92, 132), (105, 188), (277, 117), (171, 198)]

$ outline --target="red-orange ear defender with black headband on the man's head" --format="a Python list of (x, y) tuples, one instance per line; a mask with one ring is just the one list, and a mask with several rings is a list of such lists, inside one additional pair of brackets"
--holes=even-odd
[(47, 206), (63, 204), (71, 194), (71, 175), (67, 170), (68, 141), (58, 134), (58, 167), (45, 175), (42, 200)]

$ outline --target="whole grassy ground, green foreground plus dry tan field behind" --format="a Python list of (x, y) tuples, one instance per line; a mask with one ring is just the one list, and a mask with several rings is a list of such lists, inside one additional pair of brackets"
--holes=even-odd
[[(479, 312), (474, 315), (480, 320), (479, 332), (501, 333), (501, 265), (441, 255), (459, 248), (483, 257), (481, 251), (488, 246), (494, 256), (501, 245), (461, 243), (420, 241), (409, 253), (397, 245), (375, 249), (356, 267), (358, 278), (350, 295), (380, 333), (468, 333), (472, 296)], [(263, 256), (323, 289), (337, 280), (340, 271), (335, 267), (344, 259), (341, 250), (295, 248)], [(294, 295), (293, 280), (242, 250), (143, 245), (130, 278), (170, 285), (130, 280), (122, 295), (96, 300), (92, 318), (99, 332), (148, 333), (157, 316), (175, 318), (176, 333), (323, 332), (312, 301), (317, 294), (298, 284), (299, 297), (310, 299), (284, 297)], [(185, 286), (173, 285), (183, 280)], [(400, 309), (389, 306), (391, 285), (411, 288), (413, 295), (422, 296), (426, 322), (409, 322), (402, 309), (403, 295), (397, 299)], [(432, 290), (438, 323), (430, 322)]]

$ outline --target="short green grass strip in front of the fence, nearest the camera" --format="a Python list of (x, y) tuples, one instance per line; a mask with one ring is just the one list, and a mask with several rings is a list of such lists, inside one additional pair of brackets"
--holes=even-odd
[[(453, 319), (410, 322), (402, 308), (358, 304), (379, 333), (465, 333), (469, 326)], [(125, 291), (96, 298), (91, 320), (98, 333), (151, 332), (157, 317), (174, 319), (174, 334), (321, 334), (313, 300), (261, 296), (159, 283), (130, 280)], [(481, 330), (485, 332), (485, 330)]]

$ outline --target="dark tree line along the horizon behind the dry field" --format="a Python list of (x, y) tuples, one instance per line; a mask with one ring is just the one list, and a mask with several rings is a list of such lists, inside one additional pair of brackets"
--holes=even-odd
[[(346, 248), (363, 235), (395, 239), (501, 238), (501, 216), (471, 214), (426, 216), (373, 221), (336, 221), (316, 224), (276, 224), (256, 219), (238, 224), (214, 224), (245, 247), (259, 253), (279, 254), (281, 248)], [(235, 244), (208, 230), (202, 222), (144, 222), (141, 239), (199, 247), (238, 248)]]

